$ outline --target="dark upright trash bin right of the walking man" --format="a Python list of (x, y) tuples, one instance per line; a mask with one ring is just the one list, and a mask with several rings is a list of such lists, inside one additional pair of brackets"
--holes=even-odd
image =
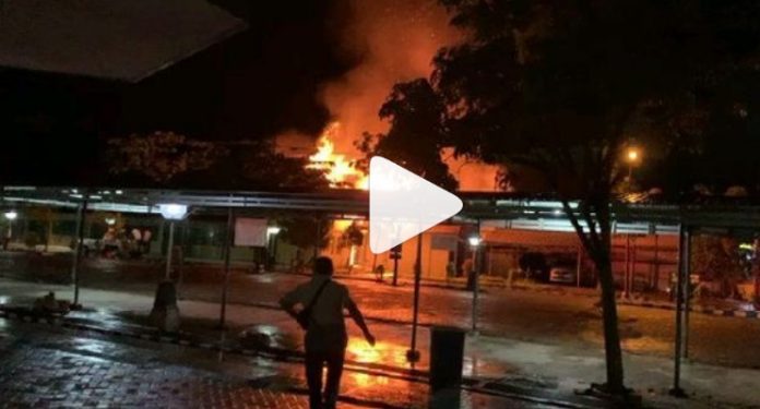
[(430, 389), (459, 387), (462, 383), (464, 330), (448, 326), (430, 328)]

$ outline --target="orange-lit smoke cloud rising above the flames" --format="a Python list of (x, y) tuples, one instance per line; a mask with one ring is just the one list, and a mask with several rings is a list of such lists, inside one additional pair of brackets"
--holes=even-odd
[(353, 15), (342, 31), (342, 50), (359, 63), (339, 81), (326, 84), (321, 97), (341, 122), (336, 148), (355, 153), (353, 142), (364, 132), (384, 132), (378, 111), (391, 87), (429, 76), (432, 57), (456, 40), (446, 10), (436, 0), (348, 0)]

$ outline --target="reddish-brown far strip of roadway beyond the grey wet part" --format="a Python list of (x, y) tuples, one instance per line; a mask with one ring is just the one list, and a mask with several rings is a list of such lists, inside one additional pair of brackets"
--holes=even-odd
[[(230, 302), (274, 305), (283, 291), (306, 279), (285, 274), (235, 275)], [(345, 280), (366, 315), (411, 322), (412, 286)], [(152, 286), (151, 286), (152, 287)], [(209, 281), (186, 282), (182, 293), (191, 300), (218, 302), (219, 287)], [(146, 290), (147, 291), (147, 290)], [(152, 293), (153, 288), (150, 288)], [(519, 338), (551, 345), (602, 346), (602, 325), (596, 299), (573, 291), (533, 292), (487, 289), (483, 294), (480, 328), (489, 336)], [(472, 325), (472, 294), (462, 290), (424, 288), (420, 322)], [(675, 313), (656, 309), (619, 306), (624, 348), (632, 353), (670, 357), (675, 337)], [(691, 314), (690, 358), (697, 362), (760, 369), (760, 320)]]

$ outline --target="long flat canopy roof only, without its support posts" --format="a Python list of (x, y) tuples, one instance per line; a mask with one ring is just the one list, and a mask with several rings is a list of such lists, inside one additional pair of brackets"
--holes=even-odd
[[(494, 220), (500, 227), (525, 230), (572, 231), (561, 202), (521, 197), (511, 193), (461, 192), (463, 210), (456, 221)], [(83, 201), (93, 210), (158, 214), (158, 204), (180, 203), (203, 209), (281, 209), (366, 217), (369, 194), (365, 191), (333, 190), (320, 193), (244, 191), (179, 191), (140, 189), (83, 189), (5, 187), (5, 206), (51, 205), (75, 208)], [(577, 206), (570, 203), (571, 208)], [(750, 201), (704, 204), (613, 205), (616, 233), (678, 233), (680, 225), (706, 229), (760, 229), (760, 205)]]

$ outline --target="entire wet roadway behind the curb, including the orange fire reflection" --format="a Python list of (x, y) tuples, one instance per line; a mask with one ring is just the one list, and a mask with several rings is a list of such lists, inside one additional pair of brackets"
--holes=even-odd
[[(236, 342), (245, 342), (246, 338), (239, 335), (247, 330), (253, 334), (253, 341), (244, 347), (258, 348), (263, 344), (298, 350), (301, 347), (300, 330), (293, 320), (276, 309), (274, 302), (278, 294), (304, 279), (277, 274), (234, 276), (234, 304), (227, 310), (229, 330), (224, 345), (234, 347)], [(405, 352), (411, 328), (404, 324), (404, 316), (409, 312), (404, 303), (411, 303), (411, 288), (368, 281), (344, 282), (351, 287), (366, 314), (375, 317), (370, 320), (370, 326), (380, 340), (376, 348), (369, 348), (356, 328), (349, 326), (352, 339), (347, 357), (351, 365), (363, 371), (346, 373), (349, 381), (344, 389), (352, 396), (369, 397), (382, 390), (395, 390), (402, 396), (399, 401), (415, 396), (417, 390), (405, 388), (403, 382), (397, 384), (397, 378), (379, 377), (367, 372), (385, 371), (390, 366), (395, 369), (391, 371), (393, 374), (404, 375), (404, 371), (409, 370)], [(134, 289), (136, 284), (131, 286)], [(150, 287), (145, 286), (144, 291), (129, 292), (86, 288), (82, 291), (82, 300), (92, 310), (72, 314), (72, 318), (112, 328), (140, 328), (146, 324), (144, 317), (153, 302)], [(54, 287), (0, 280), (0, 289), (3, 294), (13, 294), (5, 297), (4, 302), (14, 303), (28, 302), (33, 296)], [(62, 291), (60, 297), (70, 297), (70, 287), (58, 287), (57, 290)], [(218, 303), (212, 297), (216, 290), (210, 284), (190, 279), (182, 287), (185, 301), (180, 301), (183, 330), (207, 336), (212, 342), (219, 342), (219, 333), (214, 329)], [(207, 301), (194, 301), (206, 298)], [(574, 389), (603, 378), (601, 316), (592, 298), (488, 289), (484, 299), (482, 320), (485, 336), (468, 336), (465, 348), (464, 373), (478, 385), (496, 386), (491, 390), (502, 387), (520, 394), (566, 398)], [(455, 320), (461, 320), (460, 325), (468, 323), (470, 301), (470, 293), (465, 291), (425, 288), (421, 321), (428, 324)], [(672, 402), (667, 398), (673, 373), (669, 356), (673, 313), (630, 306), (620, 308), (620, 311), (624, 346), (628, 352), (628, 385), (658, 405), (698, 407), (694, 400), (682, 406), (684, 402)], [(690, 352), (696, 359), (684, 369), (687, 390), (694, 393), (694, 399), (706, 405), (704, 407), (728, 407), (733, 401), (738, 407), (760, 405), (753, 393), (760, 389), (760, 376), (751, 368), (755, 365), (752, 357), (758, 353), (756, 340), (760, 339), (760, 333), (757, 333), (760, 322), (694, 314), (691, 324)], [(424, 353), (415, 369), (424, 372), (428, 366), (425, 351), (429, 349), (429, 328), (419, 329), (418, 340)], [(708, 363), (734, 365), (739, 362), (744, 369), (705, 365), (700, 363), (703, 357), (708, 358)], [(712, 380), (715, 378), (725, 380), (729, 387), (714, 384)]]

